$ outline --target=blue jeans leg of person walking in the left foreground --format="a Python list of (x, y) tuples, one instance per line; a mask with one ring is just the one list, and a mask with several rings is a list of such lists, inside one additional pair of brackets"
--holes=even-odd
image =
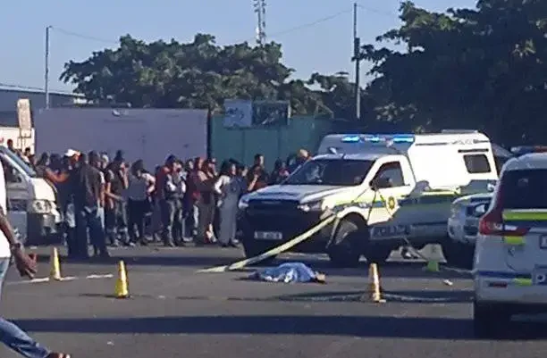
[[(0, 294), (4, 284), (5, 274), (9, 268), (10, 259), (0, 259)], [(51, 352), (44, 346), (29, 337), (22, 329), (11, 321), (0, 317), (0, 342), (9, 346), (13, 351), (27, 358), (46, 358)]]

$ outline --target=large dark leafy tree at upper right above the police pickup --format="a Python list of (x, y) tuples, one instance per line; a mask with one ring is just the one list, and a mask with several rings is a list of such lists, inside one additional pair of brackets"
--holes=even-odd
[(383, 121), (404, 129), (482, 129), (502, 143), (542, 142), (547, 112), (547, 3), (480, 0), (476, 9), (400, 6), (399, 29), (363, 46)]

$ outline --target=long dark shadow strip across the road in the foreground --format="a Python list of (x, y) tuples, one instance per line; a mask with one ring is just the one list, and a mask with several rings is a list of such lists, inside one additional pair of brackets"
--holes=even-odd
[[(445, 317), (397, 318), (373, 316), (183, 316), (119, 319), (20, 320), (30, 332), (105, 334), (258, 334), (473, 339), (471, 321)], [(511, 339), (540, 338), (535, 324), (510, 329)], [(534, 327), (533, 327), (534, 326)], [(515, 337), (518, 332), (519, 337)], [(535, 334), (534, 334), (535, 332)], [(543, 337), (545, 335), (543, 334)]]

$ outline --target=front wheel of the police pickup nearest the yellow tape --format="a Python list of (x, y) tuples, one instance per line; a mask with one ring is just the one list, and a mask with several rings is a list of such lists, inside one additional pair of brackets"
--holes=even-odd
[(365, 242), (368, 237), (359, 237), (366, 230), (359, 230), (358, 225), (349, 220), (341, 221), (327, 254), (336, 267), (356, 267), (361, 258), (359, 242)]

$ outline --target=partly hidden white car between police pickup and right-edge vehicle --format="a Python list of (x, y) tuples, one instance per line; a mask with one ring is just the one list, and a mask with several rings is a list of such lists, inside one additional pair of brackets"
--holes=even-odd
[(450, 241), (442, 254), (450, 265), (471, 269), (479, 220), (492, 201), (492, 193), (462, 196), (452, 202), (447, 231)]

